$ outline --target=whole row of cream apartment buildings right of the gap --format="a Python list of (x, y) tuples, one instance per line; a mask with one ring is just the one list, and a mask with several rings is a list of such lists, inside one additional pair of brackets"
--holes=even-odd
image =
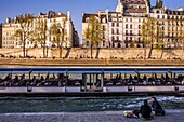
[[(90, 13), (82, 14), (82, 33), (88, 27)], [(115, 12), (108, 9), (105, 12), (93, 13), (105, 30), (101, 48), (129, 48), (143, 46), (142, 25), (147, 17), (156, 21), (156, 26), (162, 32), (162, 43), (166, 48), (181, 48), (183, 17), (182, 8), (170, 10), (163, 6), (162, 0), (157, 0), (152, 6), (149, 0), (119, 0)], [(158, 28), (157, 28), (158, 29)], [(82, 35), (83, 36), (83, 35)], [(83, 46), (90, 46), (90, 42), (82, 37)]]

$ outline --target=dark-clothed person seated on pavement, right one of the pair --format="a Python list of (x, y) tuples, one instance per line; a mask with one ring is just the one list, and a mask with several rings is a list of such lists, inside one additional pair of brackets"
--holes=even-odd
[(161, 105), (157, 101), (156, 97), (152, 97), (152, 108), (153, 113), (155, 116), (157, 114), (165, 116), (165, 110), (162, 109)]

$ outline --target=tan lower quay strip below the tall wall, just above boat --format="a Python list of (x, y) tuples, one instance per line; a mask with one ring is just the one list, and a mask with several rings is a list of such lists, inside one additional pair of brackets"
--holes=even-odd
[(184, 66), (184, 60), (121, 60), (121, 59), (0, 59), (0, 66)]

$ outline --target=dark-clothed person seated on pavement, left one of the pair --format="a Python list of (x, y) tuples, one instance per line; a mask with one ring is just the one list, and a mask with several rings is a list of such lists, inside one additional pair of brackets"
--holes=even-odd
[(143, 120), (152, 120), (152, 108), (147, 103), (147, 99), (144, 100), (144, 105), (140, 108), (140, 118)]

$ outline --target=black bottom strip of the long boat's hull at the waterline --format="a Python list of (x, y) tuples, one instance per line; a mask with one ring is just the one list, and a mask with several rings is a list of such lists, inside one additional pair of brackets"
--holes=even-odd
[(1, 93), (0, 97), (106, 97), (106, 96), (153, 96), (153, 95), (166, 95), (184, 97), (184, 91), (179, 92), (93, 92), (93, 93)]

